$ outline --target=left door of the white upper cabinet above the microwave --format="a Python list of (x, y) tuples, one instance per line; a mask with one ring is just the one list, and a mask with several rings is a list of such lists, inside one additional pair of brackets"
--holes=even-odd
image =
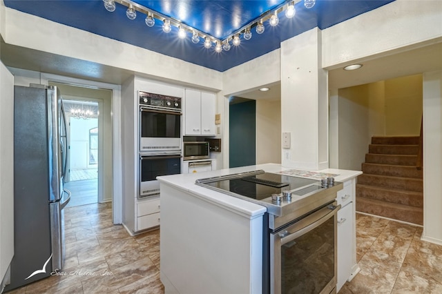
[(186, 89), (184, 135), (201, 135), (201, 92)]

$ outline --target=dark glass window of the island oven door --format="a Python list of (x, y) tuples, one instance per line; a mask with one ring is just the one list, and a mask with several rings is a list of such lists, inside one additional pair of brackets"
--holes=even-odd
[(333, 277), (333, 217), (281, 246), (281, 293), (320, 293)]

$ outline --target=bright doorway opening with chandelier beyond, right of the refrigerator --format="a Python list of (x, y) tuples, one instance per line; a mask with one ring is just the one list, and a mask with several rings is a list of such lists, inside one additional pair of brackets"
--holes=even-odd
[(64, 99), (68, 120), (69, 157), (65, 188), (72, 193), (67, 207), (98, 202), (99, 103)]

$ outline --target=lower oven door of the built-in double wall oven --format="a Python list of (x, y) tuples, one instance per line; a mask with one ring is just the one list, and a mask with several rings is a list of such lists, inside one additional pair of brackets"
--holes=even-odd
[(160, 195), (160, 175), (181, 173), (181, 154), (140, 155), (140, 193), (138, 198)]

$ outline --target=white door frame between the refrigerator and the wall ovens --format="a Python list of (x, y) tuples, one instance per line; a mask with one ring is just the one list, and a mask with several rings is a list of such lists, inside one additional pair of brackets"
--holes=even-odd
[(122, 194), (122, 138), (121, 138), (121, 85), (108, 84), (99, 81), (89, 81), (61, 75), (52, 75), (41, 72), (41, 84), (48, 82), (70, 84), (90, 88), (102, 88), (112, 91), (112, 135), (113, 135), (113, 189), (112, 189), (112, 217), (113, 224), (122, 224), (123, 194)]

